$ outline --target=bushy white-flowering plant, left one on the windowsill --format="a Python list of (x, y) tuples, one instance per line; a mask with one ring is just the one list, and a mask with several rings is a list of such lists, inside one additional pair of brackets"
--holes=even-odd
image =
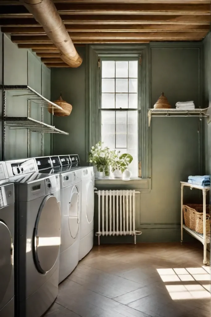
[(92, 146), (89, 152), (89, 162), (96, 165), (96, 177), (104, 178), (109, 176), (109, 166), (117, 159), (118, 155), (112, 151), (108, 146), (103, 147), (102, 142), (98, 142)]

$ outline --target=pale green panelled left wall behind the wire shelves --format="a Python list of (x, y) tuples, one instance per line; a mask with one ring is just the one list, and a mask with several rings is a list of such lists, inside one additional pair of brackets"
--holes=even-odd
[[(3, 45), (2, 45), (3, 43)], [(0, 77), (0, 83), (4, 85), (28, 85), (42, 94), (44, 97), (51, 98), (51, 70), (48, 69), (35, 53), (27, 49), (19, 49), (16, 44), (12, 43), (10, 38), (5, 34), (0, 40), (0, 69), (3, 57), (3, 79)], [(2, 76), (2, 72), (1, 75)], [(17, 96), (22, 94), (22, 96)], [(2, 94), (0, 100), (0, 111), (2, 112)], [(28, 114), (29, 112), (29, 114)], [(24, 92), (6, 93), (6, 116), (31, 117), (41, 121), (40, 105), (31, 102), (24, 95)], [(51, 115), (47, 108), (43, 110), (43, 121), (51, 123)], [(49, 155), (51, 153), (51, 136), (52, 134), (44, 133), (43, 154), (41, 152), (41, 133), (30, 132), (28, 137), (27, 129), (9, 129), (6, 126), (5, 137), (5, 160), (19, 159), (25, 157), (34, 157)], [(0, 138), (2, 140), (2, 128), (0, 126)], [(29, 139), (29, 144), (28, 144)], [(2, 142), (0, 142), (0, 149)], [(2, 151), (1, 151), (2, 153)], [(1, 159), (1, 158), (0, 158)]]

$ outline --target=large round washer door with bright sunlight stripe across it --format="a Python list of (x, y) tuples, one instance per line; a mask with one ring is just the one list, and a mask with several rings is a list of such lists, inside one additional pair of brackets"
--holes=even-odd
[(47, 195), (40, 205), (34, 227), (34, 262), (38, 272), (50, 271), (59, 255), (61, 212), (55, 196)]

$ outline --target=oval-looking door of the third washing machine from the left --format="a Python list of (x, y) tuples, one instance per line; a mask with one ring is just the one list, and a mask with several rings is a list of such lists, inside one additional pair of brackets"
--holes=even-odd
[(79, 193), (77, 186), (72, 188), (69, 200), (69, 229), (73, 239), (76, 238), (79, 229), (78, 217)]

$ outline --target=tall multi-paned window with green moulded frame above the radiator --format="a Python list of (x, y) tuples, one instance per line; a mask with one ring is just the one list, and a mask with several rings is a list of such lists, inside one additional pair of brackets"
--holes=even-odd
[(87, 54), (86, 151), (102, 140), (121, 153), (131, 153), (133, 177), (138, 176), (141, 161), (141, 177), (151, 178), (150, 47), (93, 44)]

